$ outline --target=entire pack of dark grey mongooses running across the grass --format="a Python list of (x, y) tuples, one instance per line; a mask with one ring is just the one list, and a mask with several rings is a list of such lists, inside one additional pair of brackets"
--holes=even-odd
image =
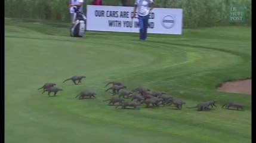
[[(82, 83), (81, 80), (83, 78), (85, 78), (85, 76), (73, 76), (69, 79), (64, 80), (63, 82), (66, 82), (67, 80), (72, 80), (72, 82), (75, 83), (75, 85), (77, 85), (78, 83)], [(78, 81), (78, 83), (76, 83), (76, 81)], [(163, 106), (174, 105), (174, 107), (181, 109), (182, 105), (186, 104), (186, 102), (182, 101), (181, 99), (173, 98), (171, 95), (166, 95), (165, 92), (151, 91), (150, 89), (143, 88), (142, 86), (136, 89), (133, 89), (132, 91), (124, 91), (124, 90), (120, 91), (121, 89), (127, 88), (127, 86), (123, 85), (120, 82), (109, 82), (105, 87), (107, 87), (110, 84), (112, 84), (112, 86), (106, 89), (105, 92), (112, 90), (112, 95), (118, 95), (118, 97), (113, 97), (113, 98), (110, 98), (109, 100), (104, 100), (104, 101), (109, 101), (108, 105), (115, 105), (115, 103), (119, 103), (119, 105), (116, 106), (116, 108), (119, 106), (122, 106), (122, 108), (134, 107), (139, 109), (141, 104), (146, 104), (146, 107), (150, 107), (150, 105), (152, 105), (153, 107), (158, 107), (159, 103), (161, 102)], [(48, 96), (50, 96), (51, 92), (54, 92), (54, 96), (56, 96), (57, 92), (63, 91), (63, 89), (60, 89), (55, 85), (56, 85), (55, 83), (45, 83), (39, 89), (43, 89), (42, 94), (44, 94), (44, 92), (47, 91)], [(134, 92), (136, 91), (138, 92), (138, 94), (134, 94)], [(82, 100), (85, 97), (95, 98), (94, 95), (97, 95), (97, 94), (91, 91), (86, 91), (86, 92), (82, 91), (78, 95), (76, 95), (75, 98), (78, 97), (79, 100)], [(125, 101), (121, 97), (124, 99), (131, 98), (131, 100)], [(199, 104), (196, 105), (195, 107), (187, 107), (187, 108), (197, 108), (197, 111), (209, 110), (210, 109), (209, 106), (211, 106), (211, 108), (213, 106), (217, 107), (215, 105), (215, 102), (217, 102), (217, 100), (199, 102)], [(226, 107), (228, 109), (229, 107), (235, 107), (236, 110), (238, 110), (239, 108), (243, 110), (244, 105), (240, 104), (239, 102), (227, 102), (222, 106), (222, 108), (223, 107)]]

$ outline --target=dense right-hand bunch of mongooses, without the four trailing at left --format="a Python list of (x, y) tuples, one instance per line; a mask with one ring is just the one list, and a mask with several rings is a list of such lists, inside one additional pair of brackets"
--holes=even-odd
[[(112, 90), (112, 95), (118, 95), (118, 97), (110, 98), (108, 105), (115, 105), (115, 103), (119, 103), (117, 107), (121, 106), (122, 108), (126, 107), (133, 107), (133, 108), (139, 108), (140, 104), (146, 104), (146, 107), (150, 107), (152, 105), (153, 107), (158, 107), (159, 104), (163, 104), (163, 106), (166, 105), (173, 105), (174, 107), (181, 109), (183, 104), (186, 104), (186, 102), (182, 101), (178, 98), (173, 98), (171, 95), (166, 95), (165, 92), (159, 92), (159, 91), (151, 91), (150, 89), (143, 88), (142, 86), (133, 89), (132, 91), (120, 91), (121, 89), (127, 88), (127, 86), (124, 86), (120, 82), (109, 82), (105, 87), (112, 84), (112, 86), (106, 91)], [(105, 91), (105, 92), (106, 92)], [(120, 91), (120, 92), (119, 92)], [(134, 94), (134, 92), (138, 92), (138, 94)], [(123, 98), (121, 98), (123, 97)], [(125, 101), (125, 99), (131, 98), (131, 101)], [(134, 101), (136, 100), (136, 101)], [(215, 105), (215, 102), (217, 100), (211, 100), (211, 101), (205, 101), (200, 102), (195, 107), (187, 107), (187, 108), (197, 108), (197, 111), (202, 110), (209, 110), (212, 107), (217, 107)], [(209, 108), (211, 106), (211, 108)], [(223, 105), (223, 107), (229, 108), (229, 107), (235, 107), (236, 110), (241, 108), (243, 110), (243, 105), (238, 102), (227, 102)], [(222, 107), (222, 108), (223, 108)]]

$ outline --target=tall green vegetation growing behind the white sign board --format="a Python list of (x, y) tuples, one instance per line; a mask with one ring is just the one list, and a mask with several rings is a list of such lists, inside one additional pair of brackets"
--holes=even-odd
[[(91, 0), (85, 3), (91, 4)], [(249, 0), (155, 0), (156, 7), (183, 8), (183, 27), (230, 26), (230, 5), (244, 5), (246, 26), (251, 26), (251, 1)], [(134, 1), (130, 2), (131, 6)], [(70, 21), (68, 0), (5, 0), (5, 17), (42, 18)], [(122, 5), (121, 0), (103, 0), (104, 5)], [(86, 7), (84, 6), (84, 11)]]

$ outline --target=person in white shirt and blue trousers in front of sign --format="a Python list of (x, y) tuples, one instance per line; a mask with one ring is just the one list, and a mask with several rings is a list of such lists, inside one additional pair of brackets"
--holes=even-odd
[(138, 24), (140, 26), (140, 40), (147, 39), (147, 27), (149, 26), (149, 12), (155, 7), (153, 0), (135, 0), (135, 6), (131, 18), (135, 17), (138, 8)]

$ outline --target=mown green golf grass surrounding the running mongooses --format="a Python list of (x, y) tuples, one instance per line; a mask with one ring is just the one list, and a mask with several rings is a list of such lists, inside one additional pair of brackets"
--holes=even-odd
[[(251, 77), (251, 27), (184, 29), (183, 35), (87, 32), (69, 23), (5, 18), (5, 142), (251, 142), (251, 95), (215, 91), (227, 79)], [(81, 85), (63, 80), (84, 75)], [(143, 85), (186, 104), (122, 110), (107, 105), (110, 80)], [(64, 91), (48, 97), (46, 82)], [(77, 100), (87, 89), (94, 100)], [(189, 109), (218, 100), (211, 111)], [(245, 111), (225, 110), (239, 101)], [(162, 105), (161, 105), (162, 106)]]

